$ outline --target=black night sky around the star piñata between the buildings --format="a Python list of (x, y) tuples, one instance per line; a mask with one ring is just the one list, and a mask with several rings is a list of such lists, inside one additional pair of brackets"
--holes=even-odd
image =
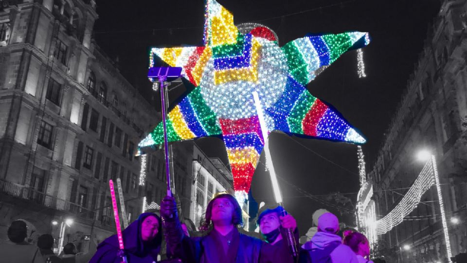
[[(428, 26), (439, 10), (439, 0), (218, 0), (233, 12), (235, 24), (262, 23), (274, 30), (280, 46), (307, 33), (369, 32), (372, 42), (363, 49), (366, 78), (357, 74), (357, 52), (341, 56), (308, 84), (311, 94), (333, 105), (368, 139), (363, 146), (367, 171), (388, 128), (395, 107), (406, 89), (413, 64), (422, 51)], [(152, 46), (200, 45), (204, 24), (202, 0), (98, 0), (99, 19), (94, 38), (113, 59), (121, 73), (154, 101), (147, 80), (149, 48)], [(185, 88), (171, 91), (173, 101)], [(159, 103), (155, 107), (160, 109)], [(326, 204), (306, 197), (325, 198), (340, 191), (354, 202), (359, 190), (357, 147), (273, 132), (270, 151), (286, 209), (295, 216), (303, 235), (311, 226), (311, 214)], [(210, 156), (227, 163), (224, 144), (218, 138), (201, 138), (197, 144)], [(259, 203), (272, 203), (264, 154), (251, 185)], [(341, 217), (347, 224), (349, 217)]]

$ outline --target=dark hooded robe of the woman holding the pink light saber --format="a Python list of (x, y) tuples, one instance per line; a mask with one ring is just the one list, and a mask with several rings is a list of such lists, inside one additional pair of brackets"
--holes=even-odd
[[(151, 242), (144, 242), (141, 238), (141, 225), (148, 216), (157, 218), (159, 221), (159, 231)], [(161, 250), (162, 242), (162, 222), (159, 216), (154, 213), (141, 214), (136, 221), (123, 230), (122, 235), (128, 263), (157, 262), (157, 255)], [(117, 235), (113, 235), (99, 244), (97, 252), (90, 260), (90, 263), (120, 263), (119, 250)]]

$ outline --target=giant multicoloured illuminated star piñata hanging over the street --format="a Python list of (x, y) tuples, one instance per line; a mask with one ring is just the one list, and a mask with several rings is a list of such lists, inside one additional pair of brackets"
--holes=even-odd
[[(246, 198), (264, 146), (252, 92), (259, 94), (268, 134), (288, 134), (355, 144), (365, 139), (328, 104), (305, 86), (350, 49), (369, 43), (367, 33), (308, 35), (279, 47), (275, 34), (257, 26), (246, 34), (234, 17), (215, 0), (207, 0), (204, 46), (153, 48), (196, 88), (167, 114), (171, 142), (220, 136), (234, 176), (237, 199)], [(162, 123), (139, 144), (139, 149), (163, 143)]]

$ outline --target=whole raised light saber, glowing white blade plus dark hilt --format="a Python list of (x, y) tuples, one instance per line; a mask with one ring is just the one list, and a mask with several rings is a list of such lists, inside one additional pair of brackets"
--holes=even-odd
[[(261, 132), (263, 134), (264, 139), (264, 153), (266, 156), (266, 167), (269, 169), (269, 176), (271, 177), (271, 184), (272, 189), (274, 191), (274, 198), (276, 203), (279, 204), (281, 207), (281, 215), (287, 215), (287, 211), (284, 209), (284, 204), (282, 204), (282, 195), (281, 190), (279, 189), (279, 183), (277, 182), (276, 172), (274, 171), (274, 166), (272, 165), (271, 153), (269, 152), (269, 145), (268, 145), (268, 127), (266, 126), (266, 122), (264, 121), (263, 109), (261, 107), (261, 101), (259, 100), (259, 96), (257, 92), (252, 92), (253, 99), (254, 99), (254, 106), (256, 107), (256, 112), (258, 113), (259, 125), (261, 127)], [(290, 252), (294, 258), (298, 256), (297, 244), (295, 243), (295, 237), (293, 236), (293, 229), (287, 228), (287, 243), (290, 248)]]

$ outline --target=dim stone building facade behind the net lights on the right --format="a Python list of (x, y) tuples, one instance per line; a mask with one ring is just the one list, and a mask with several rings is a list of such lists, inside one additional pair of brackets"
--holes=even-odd
[[(368, 173), (380, 219), (400, 202), (423, 168), (417, 151), (430, 150), (438, 164), (452, 255), (467, 249), (466, 30), (467, 1), (443, 1)], [(391, 262), (448, 262), (436, 187), (378, 240), (392, 249)]]

